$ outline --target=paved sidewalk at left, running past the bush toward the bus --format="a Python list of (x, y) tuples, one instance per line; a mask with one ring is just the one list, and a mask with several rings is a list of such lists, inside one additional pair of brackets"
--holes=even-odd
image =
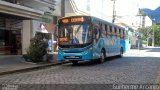
[(0, 56), (0, 75), (25, 72), (61, 64), (57, 60), (57, 53), (53, 53), (53, 55), (54, 59), (51, 62), (45, 63), (25, 62), (21, 55)]

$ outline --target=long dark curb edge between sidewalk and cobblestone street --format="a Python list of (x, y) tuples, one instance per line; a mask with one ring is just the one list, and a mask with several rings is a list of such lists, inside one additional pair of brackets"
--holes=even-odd
[(17, 70), (12, 70), (12, 71), (4, 71), (4, 72), (0, 72), (0, 76), (2, 76), (2, 75), (8, 75), (8, 74), (13, 74), (13, 73), (29, 72), (29, 71), (32, 71), (32, 70), (44, 69), (46, 67), (56, 66), (56, 65), (66, 64), (66, 63), (69, 63), (69, 62), (68, 61), (65, 61), (65, 62), (56, 62), (56, 63), (46, 64), (46, 65), (39, 65), (39, 66), (33, 66), (33, 67), (22, 68), (22, 69), (17, 69)]

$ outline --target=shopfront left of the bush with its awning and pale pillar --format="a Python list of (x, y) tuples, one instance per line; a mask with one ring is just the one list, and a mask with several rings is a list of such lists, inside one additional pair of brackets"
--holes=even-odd
[(30, 44), (30, 20), (44, 12), (12, 2), (0, 1), (0, 55), (22, 55)]

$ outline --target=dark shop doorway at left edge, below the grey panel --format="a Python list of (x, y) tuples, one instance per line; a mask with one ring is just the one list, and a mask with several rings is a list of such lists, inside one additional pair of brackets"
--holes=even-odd
[(0, 55), (21, 55), (21, 31), (0, 29)]

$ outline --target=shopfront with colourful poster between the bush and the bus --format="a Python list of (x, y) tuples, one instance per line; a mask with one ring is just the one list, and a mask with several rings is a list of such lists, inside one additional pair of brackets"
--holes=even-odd
[(41, 35), (44, 40), (48, 41), (48, 52), (56, 51), (57, 38), (56, 33), (56, 23), (57, 17), (51, 15), (43, 15), (40, 20), (33, 21), (33, 37), (35, 35)]

